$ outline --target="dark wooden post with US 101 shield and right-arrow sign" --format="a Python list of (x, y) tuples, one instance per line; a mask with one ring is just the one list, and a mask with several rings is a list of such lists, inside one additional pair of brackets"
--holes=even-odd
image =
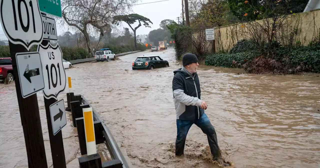
[[(42, 92), (47, 116), (52, 163), (53, 167), (66, 168), (61, 129), (67, 124), (67, 120), (63, 99), (57, 102), (59, 93), (63, 92), (66, 87), (66, 73), (62, 65), (62, 52), (59, 44), (53, 47), (48, 40), (44, 40), (41, 45), (38, 45), (37, 51), (40, 53), (43, 66), (44, 90)], [(57, 125), (59, 127), (58, 130)]]

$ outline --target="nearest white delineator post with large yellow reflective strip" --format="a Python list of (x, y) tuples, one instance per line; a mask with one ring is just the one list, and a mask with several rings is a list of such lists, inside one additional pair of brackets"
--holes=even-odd
[(83, 108), (82, 112), (87, 155), (93, 155), (97, 153), (97, 147), (94, 134), (92, 107)]

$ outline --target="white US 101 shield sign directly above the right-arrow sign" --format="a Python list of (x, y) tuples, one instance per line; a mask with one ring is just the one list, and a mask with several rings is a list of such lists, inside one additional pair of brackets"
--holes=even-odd
[(44, 97), (57, 100), (59, 93), (66, 88), (66, 72), (62, 65), (62, 51), (59, 44), (52, 46), (38, 45), (44, 77)]

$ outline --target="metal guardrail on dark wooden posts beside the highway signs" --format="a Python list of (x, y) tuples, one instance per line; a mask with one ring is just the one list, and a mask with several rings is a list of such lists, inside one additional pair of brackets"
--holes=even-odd
[[(93, 125), (94, 125), (94, 135), (96, 145), (104, 143), (108, 148), (111, 160), (102, 163), (102, 167), (94, 165), (93, 168), (129, 168), (127, 161), (125, 160), (119, 146), (116, 143), (116, 140), (112, 136), (111, 131), (108, 129), (107, 125), (104, 123), (104, 120), (99, 116), (99, 113), (92, 107), (90, 102), (84, 98), (83, 95), (77, 94), (74, 92), (67, 93), (67, 104), (68, 107), (66, 111), (71, 111), (72, 116), (72, 125), (76, 127), (78, 133), (78, 140), (80, 146), (80, 153), (82, 157), (79, 159), (80, 168), (87, 166), (82, 166), (84, 162), (87, 162), (89, 158), (99, 156), (99, 154), (87, 155), (87, 145), (85, 140), (85, 130), (84, 130), (84, 116), (83, 108), (92, 108), (93, 115)], [(100, 160), (99, 158), (97, 158)], [(80, 163), (81, 160), (81, 163)], [(89, 159), (90, 160), (90, 159)], [(101, 161), (100, 161), (101, 164)]]

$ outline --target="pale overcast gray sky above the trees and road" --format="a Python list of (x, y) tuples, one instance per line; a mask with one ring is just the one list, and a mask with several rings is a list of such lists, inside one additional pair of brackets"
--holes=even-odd
[[(162, 1), (162, 2), (157, 2)], [(155, 2), (155, 3), (152, 3)], [(148, 3), (148, 4), (145, 4)], [(143, 35), (143, 34), (149, 34), (151, 30), (160, 28), (159, 24), (161, 20), (170, 19), (178, 22), (177, 17), (180, 16), (182, 6), (181, 6), (181, 0), (140, 0), (140, 2), (137, 3), (138, 5), (132, 6), (133, 13), (140, 14), (146, 18), (149, 18), (153, 24), (151, 24), (151, 28), (146, 28), (144, 26), (141, 26), (137, 29), (137, 35)], [(133, 24), (133, 28), (136, 27), (138, 23), (136, 22)], [(132, 32), (131, 28), (123, 22), (122, 25), (119, 25), (119, 28), (129, 28), (129, 30)], [(69, 29), (70, 32), (71, 29)], [(60, 27), (57, 25), (57, 33), (58, 35), (61, 35), (65, 31), (68, 31), (68, 27)], [(4, 30), (2, 29), (2, 25), (0, 24), (0, 38), (2, 40), (7, 40), (7, 37), (4, 35)]]

